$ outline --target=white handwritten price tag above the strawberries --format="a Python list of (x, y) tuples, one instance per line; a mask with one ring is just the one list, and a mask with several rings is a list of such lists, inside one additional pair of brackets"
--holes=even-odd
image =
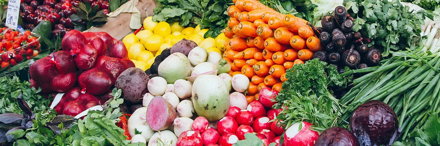
[(20, 0), (9, 0), (7, 4), (6, 26), (16, 30), (20, 14)]

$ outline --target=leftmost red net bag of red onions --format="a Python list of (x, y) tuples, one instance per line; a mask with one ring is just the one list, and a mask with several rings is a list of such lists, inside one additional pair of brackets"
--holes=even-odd
[(75, 85), (76, 67), (68, 51), (58, 51), (35, 61), (30, 68), (33, 87), (42, 93), (66, 92)]

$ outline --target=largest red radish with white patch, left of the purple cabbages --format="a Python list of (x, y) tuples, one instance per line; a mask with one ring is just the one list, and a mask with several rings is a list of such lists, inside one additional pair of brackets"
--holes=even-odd
[(319, 134), (310, 129), (311, 125), (303, 121), (287, 128), (282, 146), (313, 146)]

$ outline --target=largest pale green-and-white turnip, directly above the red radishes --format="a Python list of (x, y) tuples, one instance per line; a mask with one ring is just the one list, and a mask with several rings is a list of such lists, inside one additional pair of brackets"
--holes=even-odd
[(200, 75), (191, 89), (194, 110), (208, 121), (217, 121), (229, 108), (229, 91), (224, 81), (216, 75)]

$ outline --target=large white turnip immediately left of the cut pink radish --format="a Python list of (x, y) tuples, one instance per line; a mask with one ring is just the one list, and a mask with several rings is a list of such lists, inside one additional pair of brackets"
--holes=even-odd
[(128, 118), (127, 121), (128, 133), (131, 136), (136, 135), (135, 129), (139, 132), (142, 132), (142, 136), (145, 141), (150, 140), (151, 136), (154, 134), (154, 131), (148, 126), (147, 123), (147, 107), (141, 107), (135, 110), (133, 114)]

